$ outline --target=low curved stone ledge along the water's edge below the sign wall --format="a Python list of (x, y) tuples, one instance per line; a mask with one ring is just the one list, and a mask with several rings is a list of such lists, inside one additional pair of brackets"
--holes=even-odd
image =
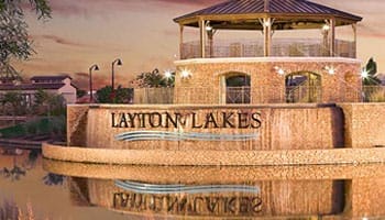
[(295, 151), (164, 151), (63, 147), (43, 145), (46, 158), (99, 164), (164, 166), (274, 166), (384, 163), (384, 148)]

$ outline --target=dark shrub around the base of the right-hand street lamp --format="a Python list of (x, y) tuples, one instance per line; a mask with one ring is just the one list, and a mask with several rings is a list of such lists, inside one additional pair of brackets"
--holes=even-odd
[(112, 97), (112, 87), (106, 86), (97, 90), (97, 99), (99, 103), (129, 103), (133, 98), (133, 90), (118, 86)]

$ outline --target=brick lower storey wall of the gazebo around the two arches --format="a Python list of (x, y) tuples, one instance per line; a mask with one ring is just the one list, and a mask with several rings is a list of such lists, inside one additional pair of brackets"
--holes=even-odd
[[(285, 76), (309, 72), (321, 76), (319, 102), (358, 102), (361, 100), (361, 62), (337, 57), (262, 57), (206, 58), (175, 62), (174, 103), (224, 103), (223, 75), (242, 73), (251, 76), (251, 103), (275, 103), (285, 100)], [(276, 73), (275, 67), (284, 70)], [(330, 75), (326, 67), (332, 67)], [(191, 76), (182, 78), (182, 72)]]

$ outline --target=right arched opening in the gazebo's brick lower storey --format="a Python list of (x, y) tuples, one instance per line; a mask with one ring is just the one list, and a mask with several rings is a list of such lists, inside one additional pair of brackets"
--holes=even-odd
[(314, 72), (301, 70), (285, 75), (287, 102), (321, 102), (322, 76)]

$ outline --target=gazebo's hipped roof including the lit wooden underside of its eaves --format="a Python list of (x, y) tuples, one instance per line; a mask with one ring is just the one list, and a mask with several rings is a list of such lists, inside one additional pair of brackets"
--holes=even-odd
[[(231, 16), (229, 16), (231, 15)], [(290, 21), (295, 19), (324, 19), (336, 18), (337, 25), (356, 23), (361, 16), (343, 12), (330, 7), (315, 3), (308, 0), (228, 0), (226, 2), (185, 14), (174, 19), (175, 22), (197, 26), (197, 20), (240, 20), (258, 18), (280, 18)]]

